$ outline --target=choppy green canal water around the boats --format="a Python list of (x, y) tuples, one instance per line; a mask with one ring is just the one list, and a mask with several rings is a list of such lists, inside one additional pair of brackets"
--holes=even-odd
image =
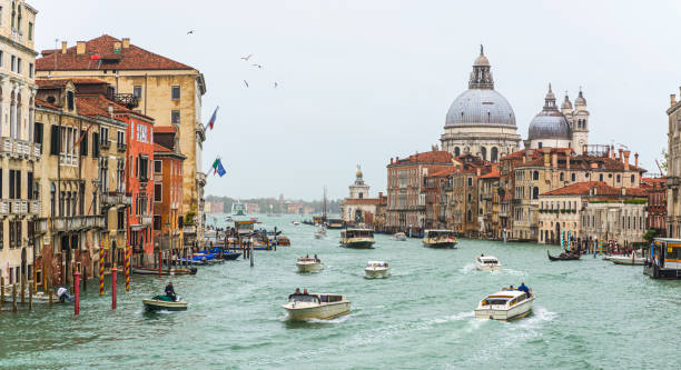
[[(549, 262), (533, 243), (461, 240), (430, 250), (421, 240), (376, 236), (373, 250), (338, 247), (339, 231), (315, 240), (292, 217), (261, 217), (292, 247), (199, 268), (171, 278), (190, 302), (186, 312), (146, 313), (141, 300), (169, 280), (132, 276), (131, 291), (99, 297), (88, 282), (80, 316), (71, 306), (2, 312), (0, 368), (85, 369), (679, 369), (681, 282), (655, 281), (641, 267), (586, 256)], [(484, 252), (504, 264), (476, 271)], [(296, 272), (296, 257), (317, 253), (320, 273)], [(367, 260), (391, 263), (392, 277), (363, 278)], [(119, 279), (119, 281), (121, 281)], [(475, 319), (478, 300), (524, 280), (537, 299), (533, 314), (512, 322)], [(295, 288), (343, 293), (349, 316), (289, 322), (280, 308)]]

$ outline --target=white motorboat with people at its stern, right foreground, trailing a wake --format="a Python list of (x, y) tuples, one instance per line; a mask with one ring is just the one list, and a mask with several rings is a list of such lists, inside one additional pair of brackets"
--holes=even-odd
[(534, 292), (530, 297), (523, 291), (504, 288), (480, 301), (475, 317), (490, 320), (512, 320), (523, 318), (532, 311)]

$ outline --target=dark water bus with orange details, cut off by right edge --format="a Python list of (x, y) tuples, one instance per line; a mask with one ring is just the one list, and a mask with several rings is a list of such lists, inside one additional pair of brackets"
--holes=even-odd
[(681, 279), (681, 239), (655, 238), (643, 272), (654, 279)]

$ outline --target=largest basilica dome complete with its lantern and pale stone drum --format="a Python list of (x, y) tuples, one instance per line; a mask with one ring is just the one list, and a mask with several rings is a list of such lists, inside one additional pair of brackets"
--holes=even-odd
[(520, 136), (509, 101), (496, 90), (482, 46), (473, 63), (468, 90), (447, 111), (442, 149), (454, 156), (473, 154), (496, 162), (519, 149)]

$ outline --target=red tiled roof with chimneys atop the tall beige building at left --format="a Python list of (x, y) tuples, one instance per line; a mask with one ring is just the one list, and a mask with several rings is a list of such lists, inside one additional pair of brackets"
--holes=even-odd
[[(36, 60), (38, 71), (69, 70), (191, 70), (194, 68), (130, 44), (129, 48), (115, 52), (114, 43), (121, 42), (111, 36), (102, 34), (86, 41), (86, 52), (77, 54), (77, 47), (42, 51), (42, 58)], [(121, 42), (122, 44), (122, 42)], [(93, 57), (97, 56), (97, 57)], [(98, 58), (99, 57), (99, 58)], [(92, 59), (95, 58), (95, 59)], [(55, 61), (56, 60), (56, 61)], [(109, 62), (106, 62), (109, 61)]]

